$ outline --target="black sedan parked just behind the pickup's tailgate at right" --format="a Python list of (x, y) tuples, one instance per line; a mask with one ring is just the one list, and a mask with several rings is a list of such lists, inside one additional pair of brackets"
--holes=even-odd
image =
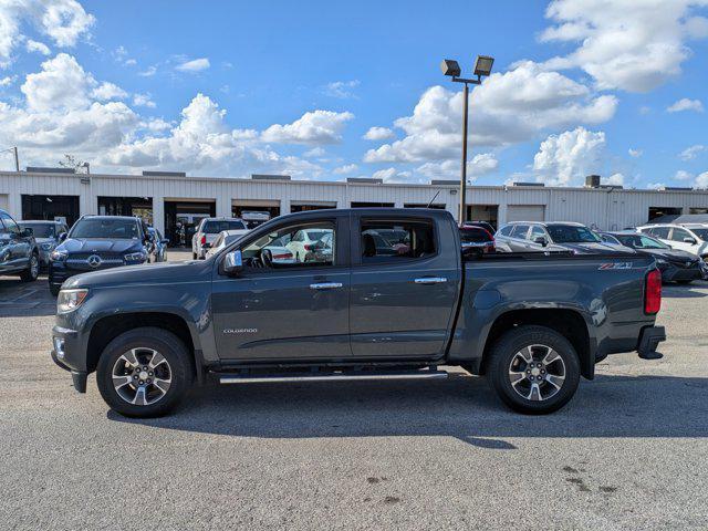
[(704, 278), (705, 262), (688, 251), (671, 249), (666, 243), (642, 232), (623, 231), (605, 236), (616, 238), (623, 246), (631, 247), (639, 253), (654, 257), (664, 282), (688, 284)]

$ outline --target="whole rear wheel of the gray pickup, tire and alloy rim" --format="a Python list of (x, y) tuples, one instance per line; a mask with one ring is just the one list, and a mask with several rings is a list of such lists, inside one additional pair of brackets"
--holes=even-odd
[(487, 376), (501, 400), (531, 415), (563, 407), (580, 383), (573, 345), (545, 326), (519, 326), (503, 334), (490, 352)]

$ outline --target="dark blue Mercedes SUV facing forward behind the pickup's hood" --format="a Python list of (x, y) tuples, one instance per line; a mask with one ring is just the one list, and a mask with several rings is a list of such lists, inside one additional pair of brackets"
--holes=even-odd
[(67, 278), (148, 261), (147, 226), (126, 216), (82, 216), (50, 254), (49, 289), (54, 296)]

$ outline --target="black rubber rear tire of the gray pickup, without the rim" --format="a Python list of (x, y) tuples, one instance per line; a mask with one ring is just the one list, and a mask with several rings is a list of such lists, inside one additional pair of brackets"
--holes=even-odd
[[(510, 369), (512, 364), (522, 362), (518, 354), (521, 354), (522, 350), (531, 345), (544, 345), (550, 347), (560, 356), (561, 362), (555, 361), (554, 365), (544, 365), (543, 374), (553, 372), (560, 372), (559, 367), (563, 368), (564, 379), (560, 384), (560, 389), (555, 385), (551, 385), (545, 379), (541, 379), (537, 383), (535, 391), (533, 389), (533, 383), (529, 382), (529, 377), (533, 374), (523, 376), (529, 369), (528, 365), (521, 365), (523, 369), (519, 371), (523, 377), (519, 378), (518, 386), (514, 387), (511, 383)], [(533, 360), (537, 357), (544, 357), (544, 351), (540, 346), (534, 346), (532, 350)], [(523, 355), (522, 355), (523, 357)], [(540, 365), (537, 362), (532, 362), (537, 367)], [(517, 368), (517, 367), (514, 367)], [(535, 371), (538, 372), (538, 371)], [(552, 413), (563, 407), (573, 397), (580, 383), (580, 360), (573, 348), (573, 345), (561, 334), (552, 329), (545, 326), (519, 326), (510, 332), (503, 334), (497, 343), (492, 346), (489, 354), (489, 361), (487, 364), (487, 376), (491, 387), (494, 389), (499, 398), (516, 412), (529, 414), (529, 415), (543, 415)], [(550, 376), (550, 374), (549, 374)], [(545, 378), (538, 374), (537, 378)], [(543, 399), (530, 399), (522, 396), (521, 392), (525, 395), (525, 385), (529, 386), (529, 395), (534, 397), (542, 397), (544, 394), (546, 397)], [(519, 388), (519, 391), (517, 391)]]

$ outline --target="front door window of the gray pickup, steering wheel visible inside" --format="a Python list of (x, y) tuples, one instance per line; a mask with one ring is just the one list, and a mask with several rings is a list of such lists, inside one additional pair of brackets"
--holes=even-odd
[(251, 268), (302, 268), (334, 266), (334, 223), (320, 222), (283, 227), (242, 249)]

